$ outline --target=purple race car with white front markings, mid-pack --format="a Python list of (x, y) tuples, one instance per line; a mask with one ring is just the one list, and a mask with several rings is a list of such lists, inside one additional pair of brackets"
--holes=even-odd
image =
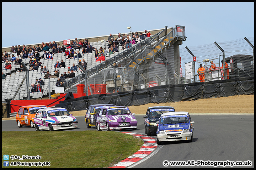
[(96, 128), (98, 131), (106, 129), (107, 131), (113, 129), (137, 129), (137, 120), (131, 114), (128, 107), (124, 106), (114, 106), (114, 107), (104, 107), (98, 112), (96, 119)]

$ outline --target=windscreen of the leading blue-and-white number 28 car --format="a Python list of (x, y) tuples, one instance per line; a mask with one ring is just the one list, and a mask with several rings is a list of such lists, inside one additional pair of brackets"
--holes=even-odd
[(167, 115), (161, 117), (159, 124), (189, 123), (187, 115)]

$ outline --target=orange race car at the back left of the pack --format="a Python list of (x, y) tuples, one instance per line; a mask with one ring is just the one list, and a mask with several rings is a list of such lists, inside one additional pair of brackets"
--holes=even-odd
[(21, 128), (22, 126), (30, 126), (33, 128), (36, 112), (42, 108), (47, 108), (47, 106), (37, 104), (20, 107), (16, 114), (16, 122), (18, 127)]

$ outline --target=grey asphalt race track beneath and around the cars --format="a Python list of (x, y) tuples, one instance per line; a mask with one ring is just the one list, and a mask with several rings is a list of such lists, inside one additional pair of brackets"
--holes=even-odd
[[(190, 114), (195, 121), (194, 140), (165, 142), (142, 160), (127, 168), (231, 168), (214, 166), (214, 162), (247, 162), (251, 166), (232, 166), (236, 168), (254, 168), (254, 115), (253, 114)], [(79, 116), (76, 130), (96, 130), (86, 128), (85, 117)], [(137, 130), (126, 131), (144, 134), (143, 115), (136, 115)], [(15, 120), (2, 121), (2, 131), (31, 131), (29, 126), (18, 128)], [(104, 132), (105, 130), (103, 130)], [(156, 134), (152, 134), (155, 137)], [(152, 155), (152, 156), (151, 156)], [(164, 165), (167, 161), (168, 165)], [(185, 162), (194, 166), (171, 166), (170, 162)], [(202, 162), (201, 162), (202, 161)], [(209, 162), (208, 162), (209, 161)], [(197, 163), (201, 163), (199, 166)], [(204, 163), (205, 165), (202, 165)], [(166, 162), (165, 162), (166, 164)], [(207, 164), (207, 165), (206, 165)], [(208, 166), (208, 164), (212, 164)]]

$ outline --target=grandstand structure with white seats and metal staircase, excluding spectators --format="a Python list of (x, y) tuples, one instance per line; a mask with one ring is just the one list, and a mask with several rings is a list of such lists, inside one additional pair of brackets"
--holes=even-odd
[[(122, 50), (122, 47), (119, 46), (118, 52), (111, 55), (107, 51), (106, 61), (104, 62), (95, 62), (94, 51), (89, 54), (82, 54), (82, 49), (79, 49), (82, 58), (66, 59), (67, 57), (64, 56), (64, 53), (57, 53), (53, 55), (53, 60), (42, 58), (40, 62), (42, 63), (41, 65), (49, 69), (50, 74), (54, 74), (55, 68), (53, 66), (56, 61), (64, 60), (65, 67), (57, 68), (61, 74), (67, 72), (68, 67), (71, 67), (73, 63), (77, 66), (79, 60), (85, 59), (87, 62), (86, 75), (85, 73), (80, 73), (80, 71), (74, 72), (76, 77), (66, 80), (64, 83), (66, 86), (65, 93), (76, 93), (76, 85), (78, 84), (85, 84), (88, 87), (85, 88), (87, 95), (100, 93), (96, 91), (96, 88), (92, 88), (92, 85), (96, 84), (105, 84), (107, 93), (112, 93), (114, 89), (125, 91), (170, 83), (175, 84), (175, 81), (178, 81), (178, 76), (176, 75), (180, 72), (178, 45), (182, 44), (185, 38), (185, 27), (183, 27), (183, 32), (178, 32), (177, 27), (183, 26), (168, 29), (166, 27), (156, 33), (151, 32), (151, 37), (132, 45), (129, 49)], [(98, 39), (98, 41), (91, 41), (95, 39)], [(164, 44), (165, 41), (166, 45)], [(108, 47), (108, 42), (99, 38), (91, 38), (89, 42), (95, 49)], [(61, 44), (62, 42), (56, 41), (56, 43)], [(19, 57), (16, 53), (10, 54), (14, 54), (16, 58)], [(42, 56), (43, 52), (41, 51), (39, 55)], [(166, 59), (168, 64), (165, 64), (167, 62)], [(29, 59), (22, 60), (26, 67), (29, 68)], [(115, 69), (112, 67), (113, 63), (120, 64), (122, 67)], [(42, 98), (43, 95), (50, 97), (50, 94), (54, 94), (58, 78), (44, 79), (44, 73), (40, 73), (40, 69), (30, 70), (26, 75), (26, 72), (17, 72), (20, 65), (15, 66), (14, 62), (11, 62), (11, 65), (11, 70), (3, 69), (6, 79), (2, 80), (2, 101), (29, 100), (28, 96), (33, 99)], [(2, 68), (4, 68), (4, 63), (2, 63)], [(168, 75), (163, 74), (163, 72)], [(27, 77), (29, 77), (29, 81), (26, 80)], [(30, 85), (39, 78), (42, 78), (45, 83), (43, 92), (34, 92), (32, 94)], [(29, 87), (27, 87), (27, 84), (29, 84)]]

